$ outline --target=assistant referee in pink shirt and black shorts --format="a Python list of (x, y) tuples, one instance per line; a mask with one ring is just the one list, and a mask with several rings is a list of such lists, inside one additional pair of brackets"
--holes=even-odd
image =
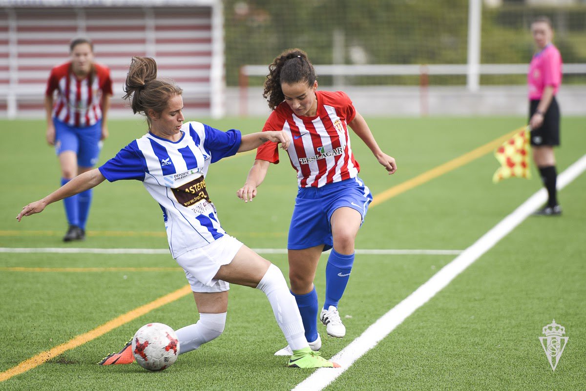
[(557, 201), (556, 157), (553, 147), (560, 145), (560, 108), (556, 94), (561, 84), (561, 55), (551, 43), (551, 20), (539, 16), (531, 24), (537, 52), (529, 65), (529, 126), (533, 160), (539, 169), (543, 185), (547, 189), (547, 205), (536, 214), (553, 216), (561, 214)]

